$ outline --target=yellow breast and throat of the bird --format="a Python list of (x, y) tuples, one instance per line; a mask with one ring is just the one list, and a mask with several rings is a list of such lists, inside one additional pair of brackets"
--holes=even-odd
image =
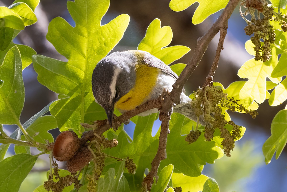
[(135, 85), (117, 101), (115, 104), (115, 108), (117, 109), (133, 110), (149, 99), (150, 93), (156, 85), (160, 69), (147, 65), (137, 65), (135, 70)]

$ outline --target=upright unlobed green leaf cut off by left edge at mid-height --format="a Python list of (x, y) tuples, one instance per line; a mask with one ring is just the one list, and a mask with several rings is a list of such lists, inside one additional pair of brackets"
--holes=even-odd
[(17, 46), (12, 47), (0, 66), (0, 123), (20, 124), (20, 114), (24, 106), (24, 83), (22, 62)]

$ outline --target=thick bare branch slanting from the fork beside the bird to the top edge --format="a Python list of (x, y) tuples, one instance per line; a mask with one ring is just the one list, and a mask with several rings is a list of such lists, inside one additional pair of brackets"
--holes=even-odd
[(184, 84), (187, 82), (188, 78), (199, 64), (203, 54), (214, 36), (220, 29), (227, 28), (228, 19), (230, 18), (235, 7), (238, 5), (239, 1), (240, 0), (230, 0), (212, 27), (204, 34), (203, 37), (198, 39), (193, 57), (187, 63), (187, 66), (183, 69), (177, 81), (172, 85), (173, 89), (171, 91), (171, 98), (174, 103), (179, 104), (181, 102), (180, 95)]

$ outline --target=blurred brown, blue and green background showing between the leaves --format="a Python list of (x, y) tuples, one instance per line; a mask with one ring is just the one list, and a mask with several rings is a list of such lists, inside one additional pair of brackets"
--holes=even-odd
[[(12, 3), (13, 0), (0, 0), (0, 6), (9, 6)], [(14, 40), (15, 43), (28, 45), (37, 54), (66, 61), (67, 59), (59, 55), (45, 38), (49, 22), (57, 16), (63, 17), (72, 26), (75, 25), (67, 11), (66, 3), (66, 0), (41, 0), (39, 6), (35, 9), (38, 22), (25, 27)], [(136, 49), (144, 37), (150, 22), (155, 18), (159, 18), (161, 26), (168, 25), (172, 28), (173, 39), (170, 46), (185, 45), (191, 48), (189, 53), (174, 62), (187, 63), (193, 55), (197, 38), (201, 37), (210, 28), (221, 11), (210, 16), (201, 24), (193, 25), (191, 18), (198, 3), (181, 12), (172, 11), (168, 3), (169, 0), (111, 0), (110, 8), (104, 16), (102, 24), (106, 24), (122, 13), (129, 14), (131, 17), (123, 39), (113, 51)], [(250, 37), (244, 33), (243, 29), (246, 26), (246, 22), (240, 17), (238, 9), (235, 9), (232, 14), (228, 26), (224, 50), (222, 50), (219, 67), (214, 76), (214, 81), (222, 83), (224, 87), (228, 87), (231, 82), (241, 80), (237, 76), (238, 69), (245, 61), (253, 57), (244, 48), (244, 43)], [(185, 85), (187, 93), (192, 93), (193, 90), (199, 86), (201, 87), (205, 82), (205, 77), (214, 59), (218, 39), (219, 36), (213, 39), (199, 66), (189, 78)], [(26, 97), (20, 119), (22, 123), (26, 122), (48, 103), (57, 99), (57, 95), (37, 81), (37, 74), (34, 72), (32, 65), (23, 71), (23, 80)], [(255, 119), (246, 114), (231, 113), (231, 118), (236, 124), (246, 127), (245, 135), (243, 139), (236, 142), (236, 147), (232, 151), (232, 157), (224, 156), (217, 160), (215, 164), (208, 164), (203, 169), (203, 174), (213, 177), (218, 182), (220, 191), (286, 191), (286, 149), (284, 149), (278, 160), (274, 159), (269, 165), (265, 165), (262, 154), (262, 145), (271, 134), (270, 125), (272, 119), (285, 105), (286, 103), (271, 107), (268, 105), (268, 101), (265, 101), (259, 105), (259, 115)], [(133, 125), (131, 124), (130, 126), (132, 127)], [(131, 127), (126, 127), (126, 129), (128, 129), (127, 132), (132, 137), (133, 131)], [(155, 127), (158, 128), (158, 124), (155, 124)], [(4, 128), (7, 130), (7, 133), (12, 133), (16, 127), (5, 126)], [(153, 132), (157, 131), (156, 128)], [(54, 137), (57, 137), (59, 130), (55, 129), (52, 133)], [(13, 147), (10, 147), (9, 152), (13, 154)], [(42, 157), (42, 160), (36, 162), (32, 172), (22, 183), (20, 192), (33, 191), (38, 185), (43, 183), (46, 179), (46, 171), (49, 170), (48, 160), (49, 158), (46, 155)]]

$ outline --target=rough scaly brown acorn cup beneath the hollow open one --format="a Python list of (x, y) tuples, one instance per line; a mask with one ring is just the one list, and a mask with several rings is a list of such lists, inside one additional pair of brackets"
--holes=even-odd
[(93, 154), (87, 147), (80, 147), (79, 151), (73, 158), (67, 161), (67, 170), (71, 173), (77, 172), (84, 168), (93, 158)]

